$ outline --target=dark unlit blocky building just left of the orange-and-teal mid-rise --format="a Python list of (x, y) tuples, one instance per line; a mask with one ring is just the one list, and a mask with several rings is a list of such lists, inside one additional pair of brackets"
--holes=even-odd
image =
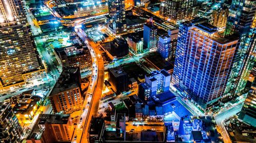
[(127, 41), (122, 38), (115, 38), (110, 42), (110, 52), (116, 58), (122, 58), (129, 54), (129, 45)]

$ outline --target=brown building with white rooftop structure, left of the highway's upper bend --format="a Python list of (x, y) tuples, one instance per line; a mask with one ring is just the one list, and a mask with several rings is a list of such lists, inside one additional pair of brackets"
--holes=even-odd
[(92, 59), (87, 46), (75, 44), (74, 46), (55, 48), (54, 50), (61, 61), (62, 67), (79, 67), (80, 70), (86, 70), (92, 66)]

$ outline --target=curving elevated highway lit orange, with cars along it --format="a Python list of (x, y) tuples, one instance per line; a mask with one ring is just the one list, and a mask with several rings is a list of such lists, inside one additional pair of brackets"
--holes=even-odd
[[(88, 130), (91, 121), (91, 117), (98, 113), (99, 101), (101, 98), (104, 82), (104, 63), (101, 57), (101, 53), (98, 49), (98, 44), (86, 37), (86, 34), (81, 30), (76, 30), (79, 38), (89, 47), (93, 64), (93, 75), (97, 75), (92, 82), (91, 88), (88, 89), (88, 94), (92, 94), (92, 97), (87, 96), (84, 100), (83, 107), (84, 111), (81, 115), (81, 121), (78, 122), (76, 130), (71, 142), (88, 142)], [(96, 74), (95, 74), (96, 73)], [(90, 102), (90, 105), (87, 103)]]

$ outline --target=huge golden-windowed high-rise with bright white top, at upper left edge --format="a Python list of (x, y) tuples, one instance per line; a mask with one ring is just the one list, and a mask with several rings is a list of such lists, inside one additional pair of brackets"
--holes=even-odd
[(39, 68), (21, 0), (0, 1), (0, 89)]

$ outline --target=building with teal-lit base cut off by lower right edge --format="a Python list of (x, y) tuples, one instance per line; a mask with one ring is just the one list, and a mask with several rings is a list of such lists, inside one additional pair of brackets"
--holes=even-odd
[(256, 127), (256, 79), (254, 79), (251, 90), (244, 101), (239, 118), (243, 120), (243, 122)]

